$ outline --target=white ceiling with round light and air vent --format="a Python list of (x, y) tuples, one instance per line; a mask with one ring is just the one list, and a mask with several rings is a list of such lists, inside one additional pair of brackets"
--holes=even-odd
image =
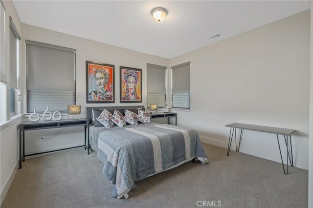
[[(13, 2), (22, 23), (167, 59), (310, 9), (310, 0)], [(167, 9), (164, 21), (152, 18), (155, 7)]]

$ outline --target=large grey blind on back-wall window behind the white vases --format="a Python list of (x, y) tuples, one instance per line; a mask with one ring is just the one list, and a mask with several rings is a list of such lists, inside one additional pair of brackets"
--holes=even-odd
[(27, 113), (76, 104), (76, 50), (26, 40)]

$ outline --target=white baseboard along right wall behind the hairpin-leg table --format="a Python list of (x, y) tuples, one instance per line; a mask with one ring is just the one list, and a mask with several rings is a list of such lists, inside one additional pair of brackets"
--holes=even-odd
[[(201, 142), (207, 143), (207, 144), (210, 144), (210, 145), (220, 146), (220, 147), (223, 147), (223, 148), (226, 148), (226, 149), (228, 147), (228, 142), (227, 143), (226, 142), (221, 142), (221, 141), (218, 141), (218, 140), (205, 138), (205, 137), (200, 137), (200, 140), (201, 140)], [(236, 150), (236, 146), (234, 144), (232, 144), (230, 146), (230, 149), (231, 150)], [(264, 159), (267, 159), (267, 160), (275, 161), (275, 162), (278, 162), (278, 163), (282, 162), (281, 158), (280, 158), (279, 150), (278, 150), (278, 153), (275, 154), (275, 153), (272, 153), (272, 152), (267, 152), (267, 151), (263, 151), (263, 150), (260, 150), (260, 149), (253, 149), (253, 148), (241, 145), (240, 146), (240, 152), (248, 154), (248, 155), (253, 155), (253, 156), (256, 156), (256, 157), (264, 158)], [(286, 158), (286, 155), (283, 155), (284, 163), (286, 162), (285, 158)], [(302, 169), (306, 169), (306, 170), (309, 169), (309, 162), (308, 161), (304, 161), (304, 160), (298, 160), (298, 159), (294, 158), (294, 154), (293, 154), (293, 165), (296, 166), (296, 167), (302, 168)]]

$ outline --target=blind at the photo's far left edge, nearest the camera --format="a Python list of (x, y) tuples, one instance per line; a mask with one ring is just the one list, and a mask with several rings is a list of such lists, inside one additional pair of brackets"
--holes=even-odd
[(5, 11), (2, 2), (0, 2), (0, 46), (0, 82), (6, 84)]

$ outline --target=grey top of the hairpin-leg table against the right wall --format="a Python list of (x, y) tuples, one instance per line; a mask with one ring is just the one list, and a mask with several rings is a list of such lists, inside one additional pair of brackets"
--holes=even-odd
[(252, 130), (252, 131), (261, 131), (261, 132), (267, 132), (267, 133), (273, 133), (273, 134), (282, 134), (282, 135), (291, 135), (293, 132), (295, 132), (294, 129), (289, 129), (289, 128), (277, 128), (277, 127), (264, 126), (264, 125), (251, 125), (251, 124), (241, 124), (241, 123), (233, 123), (233, 124), (228, 124), (225, 126)]

